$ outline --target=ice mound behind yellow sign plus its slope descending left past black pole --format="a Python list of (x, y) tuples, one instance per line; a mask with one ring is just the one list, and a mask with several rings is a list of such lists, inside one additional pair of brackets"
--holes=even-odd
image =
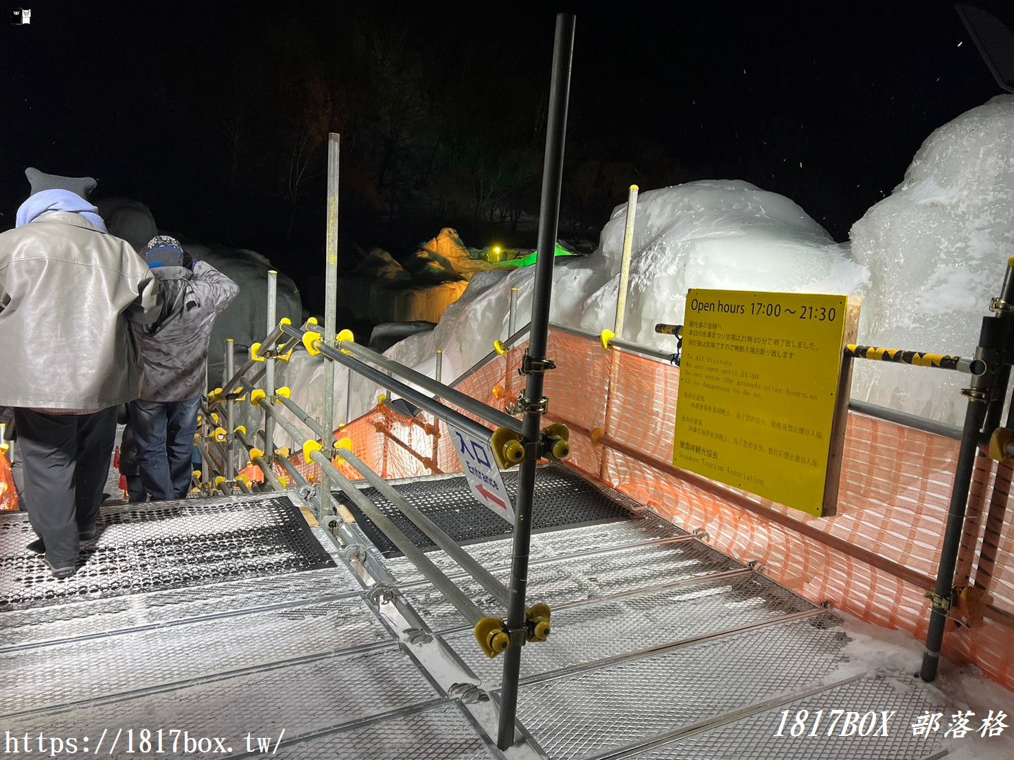
[[(558, 258), (552, 318), (599, 332), (612, 326), (626, 207), (618, 207), (587, 257)], [(476, 273), (431, 332), (412, 335), (387, 356), (430, 376), (442, 349), (443, 378), (453, 380), (506, 337), (511, 288), (519, 289), (518, 325), (531, 311), (534, 268)], [(750, 288), (852, 294), (866, 270), (851, 260), (820, 225), (792, 201), (738, 180), (698, 181), (643, 193), (638, 199), (631, 292), (624, 336), (648, 346), (671, 344), (653, 331), (681, 321), (687, 288)], [(293, 365), (287, 377), (303, 408), (322, 404), (319, 360)], [(339, 416), (346, 373), (336, 374)], [(353, 378), (350, 416), (372, 406), (379, 389)], [(343, 421), (344, 422), (344, 421)]]

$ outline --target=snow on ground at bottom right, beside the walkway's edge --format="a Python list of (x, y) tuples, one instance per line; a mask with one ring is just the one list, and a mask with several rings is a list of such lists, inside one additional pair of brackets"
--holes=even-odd
[[(849, 662), (840, 671), (828, 676), (827, 680), (835, 681), (859, 670), (884, 669), (911, 674), (919, 672), (923, 660), (922, 641), (902, 631), (871, 625), (841, 610), (837, 610), (836, 614), (845, 618), (844, 627), (852, 640), (842, 651)], [(938, 705), (936, 711), (943, 713), (943, 717), (939, 719), (941, 734), (950, 728), (952, 715), (958, 710), (970, 709), (974, 712), (969, 717), (973, 731), (980, 729), (990, 710), (993, 710), (994, 716), (997, 710), (1003, 710), (1007, 715), (1005, 723), (1010, 728), (999, 736), (983, 738), (976, 733), (967, 734), (960, 739), (948, 739), (951, 742), (947, 747), (949, 759), (1010, 760), (1014, 757), (1014, 694), (987, 679), (977, 668), (958, 668), (946, 660), (941, 660), (936, 681), (926, 689), (930, 699)], [(901, 723), (895, 723), (892, 731), (912, 731), (911, 724), (903, 724), (915, 717), (898, 715), (897, 719)]]

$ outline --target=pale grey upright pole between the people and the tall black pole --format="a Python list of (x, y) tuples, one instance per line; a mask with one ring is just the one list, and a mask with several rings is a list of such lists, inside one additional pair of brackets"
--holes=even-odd
[[(323, 341), (335, 345), (336, 321), (338, 320), (338, 171), (341, 136), (332, 132), (328, 136), (328, 235), (324, 246), (323, 279)], [(335, 363), (325, 361), (323, 365), (323, 414), (320, 425), (325, 433), (322, 442), (327, 449), (334, 446), (335, 432)], [(348, 423), (348, 421), (346, 421)], [(328, 454), (331, 459), (331, 454)], [(320, 517), (331, 514), (331, 476), (320, 468)]]

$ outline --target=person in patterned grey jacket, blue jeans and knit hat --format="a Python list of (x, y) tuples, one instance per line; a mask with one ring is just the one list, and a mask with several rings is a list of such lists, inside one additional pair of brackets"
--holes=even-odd
[(162, 286), (164, 307), (153, 325), (135, 330), (145, 383), (127, 411), (141, 484), (161, 502), (190, 490), (211, 328), (239, 287), (207, 261), (191, 258), (168, 235), (152, 238), (141, 254)]

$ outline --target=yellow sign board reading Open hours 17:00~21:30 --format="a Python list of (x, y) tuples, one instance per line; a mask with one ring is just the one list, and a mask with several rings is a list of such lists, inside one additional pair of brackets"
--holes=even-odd
[[(811, 515), (834, 514), (847, 296), (691, 290), (672, 464)], [(843, 404), (848, 403), (846, 384)]]

